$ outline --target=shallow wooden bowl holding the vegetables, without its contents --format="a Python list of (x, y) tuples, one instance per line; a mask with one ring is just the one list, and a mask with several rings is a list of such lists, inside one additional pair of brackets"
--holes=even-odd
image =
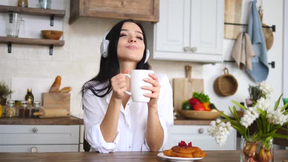
[(196, 110), (178, 110), (179, 114), (187, 119), (215, 120), (221, 116), (223, 111), (196, 111)]

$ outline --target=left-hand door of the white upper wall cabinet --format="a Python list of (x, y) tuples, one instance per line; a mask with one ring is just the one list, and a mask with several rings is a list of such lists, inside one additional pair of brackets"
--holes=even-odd
[(189, 46), (190, 0), (160, 0), (156, 50), (183, 52)]

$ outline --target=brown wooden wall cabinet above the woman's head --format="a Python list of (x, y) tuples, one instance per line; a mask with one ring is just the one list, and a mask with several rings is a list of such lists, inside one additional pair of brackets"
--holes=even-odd
[(159, 0), (70, 0), (69, 24), (80, 17), (157, 22)]

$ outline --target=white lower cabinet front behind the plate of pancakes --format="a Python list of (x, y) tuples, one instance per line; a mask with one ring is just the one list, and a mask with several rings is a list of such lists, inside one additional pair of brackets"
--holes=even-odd
[(202, 150), (236, 150), (236, 130), (230, 131), (226, 144), (220, 147), (207, 132), (209, 125), (173, 125), (168, 129), (168, 141), (164, 150), (178, 145), (178, 142), (192, 142)]

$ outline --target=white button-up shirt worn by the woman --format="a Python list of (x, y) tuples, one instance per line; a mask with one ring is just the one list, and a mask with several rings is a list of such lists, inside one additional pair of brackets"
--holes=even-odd
[[(164, 130), (163, 145), (167, 141), (167, 128), (173, 125), (172, 88), (165, 74), (156, 74), (161, 85), (158, 98), (158, 116)], [(99, 85), (101, 86), (101, 85)], [(100, 88), (100, 87), (96, 87)], [(145, 132), (147, 127), (148, 106), (145, 102), (128, 100), (125, 109), (121, 105), (117, 135), (113, 142), (105, 142), (100, 124), (106, 114), (112, 91), (105, 97), (95, 96), (87, 90), (83, 96), (85, 140), (92, 151), (102, 153), (115, 151), (150, 151)], [(162, 148), (163, 149), (163, 145)]]

